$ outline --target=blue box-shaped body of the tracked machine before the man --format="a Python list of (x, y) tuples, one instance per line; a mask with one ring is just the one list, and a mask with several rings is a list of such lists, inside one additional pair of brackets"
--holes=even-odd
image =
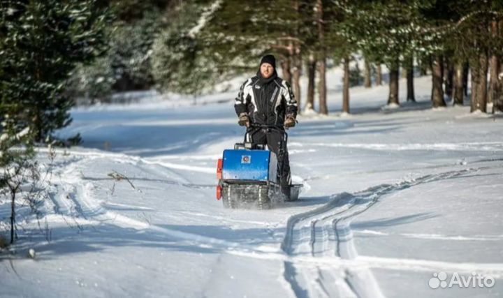
[(277, 180), (277, 158), (269, 150), (224, 150), (222, 179), (224, 180)]

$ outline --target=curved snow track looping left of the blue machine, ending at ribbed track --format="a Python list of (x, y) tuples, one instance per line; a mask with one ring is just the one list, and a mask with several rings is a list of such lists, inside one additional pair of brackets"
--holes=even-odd
[[(196, 190), (199, 188), (207, 188), (208, 186), (191, 184), (190, 181), (182, 177), (180, 174), (171, 171), (167, 167), (163, 167), (161, 163), (145, 161), (143, 158), (137, 158), (136, 156), (113, 153), (94, 154), (93, 152), (84, 152), (84, 154), (81, 154), (80, 156), (83, 157), (72, 161), (71, 164), (64, 165), (63, 172), (59, 173), (59, 185), (57, 186), (56, 196), (54, 196), (54, 198), (51, 197), (51, 203), (53, 205), (52, 209), (54, 210), (54, 213), (63, 216), (67, 223), (68, 221), (66, 217), (75, 220), (76, 216), (85, 218), (85, 221), (81, 221), (80, 224), (87, 223), (93, 225), (96, 223), (108, 223), (119, 228), (150, 230), (174, 239), (186, 240), (191, 244), (205, 248), (218, 248), (221, 251), (231, 252), (257, 251), (259, 253), (267, 253), (267, 250), (263, 251), (260, 248), (257, 249), (255, 246), (243, 245), (222, 239), (201, 236), (199, 234), (172, 230), (169, 228), (162, 228), (156, 225), (151, 225), (150, 223), (145, 223), (144, 221), (129, 218), (128, 216), (124, 216), (114, 211), (109, 211), (104, 207), (104, 201), (95, 198), (95, 195), (93, 194), (95, 186), (92, 181), (86, 182), (85, 178), (82, 177), (82, 173), (78, 170), (82, 163), (87, 163), (89, 160), (96, 158), (110, 158), (119, 163), (131, 163), (140, 170), (150, 174), (159, 173), (161, 176), (164, 176), (166, 173), (163, 173), (163, 171), (168, 171), (170, 175), (175, 176), (175, 179), (178, 180), (173, 181), (173, 184), (179, 186), (195, 188)], [(61, 192), (63, 194), (61, 194)], [(75, 211), (77, 211), (76, 214)]]

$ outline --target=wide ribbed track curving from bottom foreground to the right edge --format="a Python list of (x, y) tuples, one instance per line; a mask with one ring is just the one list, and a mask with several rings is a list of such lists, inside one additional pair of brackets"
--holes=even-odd
[[(282, 250), (293, 257), (293, 261), (284, 262), (284, 278), (297, 297), (384, 297), (369, 266), (355, 267), (351, 266), (351, 262), (341, 262), (339, 266), (328, 268), (317, 266), (316, 277), (306, 278), (302, 274), (307, 269), (306, 265), (297, 265), (295, 257), (335, 256), (340, 260), (355, 260), (358, 253), (353, 242), (351, 220), (370, 209), (379, 199), (419, 184), (451, 179), (488, 168), (491, 167), (428, 174), (394, 185), (374, 186), (358, 193), (340, 193), (321, 207), (291, 216), (287, 221)], [(328, 291), (333, 285), (335, 290)]]

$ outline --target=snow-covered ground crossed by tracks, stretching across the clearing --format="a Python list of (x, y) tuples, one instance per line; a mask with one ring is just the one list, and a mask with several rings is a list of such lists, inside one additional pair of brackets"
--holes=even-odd
[[(57, 150), (49, 230), (19, 219), (0, 296), (503, 295), (503, 118), (432, 110), (429, 77), (399, 109), (381, 109), (386, 86), (353, 88), (354, 114), (340, 116), (340, 73), (328, 79), (331, 116), (299, 117), (289, 132), (300, 200), (267, 211), (214, 198), (217, 158), (243, 133), (233, 92), (207, 105), (73, 110), (61, 135), (84, 142)], [(440, 272), (448, 284), (455, 274), (495, 283), (442, 288)]]

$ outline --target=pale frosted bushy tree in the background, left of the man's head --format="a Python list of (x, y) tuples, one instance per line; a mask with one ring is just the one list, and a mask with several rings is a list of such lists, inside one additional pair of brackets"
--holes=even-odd
[(211, 6), (196, 1), (185, 1), (168, 12), (169, 23), (152, 46), (152, 74), (161, 91), (200, 94), (219, 79), (217, 53), (198, 38), (199, 22), (211, 13)]

